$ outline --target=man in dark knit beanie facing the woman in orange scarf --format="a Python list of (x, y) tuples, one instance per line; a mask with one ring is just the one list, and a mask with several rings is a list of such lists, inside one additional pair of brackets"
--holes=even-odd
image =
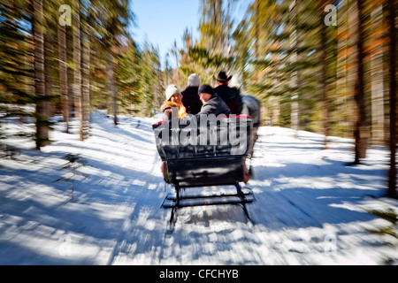
[(232, 114), (228, 105), (214, 92), (214, 88), (211, 88), (208, 84), (203, 84), (198, 88), (197, 94), (199, 99), (203, 103), (199, 114)]

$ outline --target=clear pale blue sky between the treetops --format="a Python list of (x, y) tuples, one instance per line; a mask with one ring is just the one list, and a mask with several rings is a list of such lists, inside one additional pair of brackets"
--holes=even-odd
[[(135, 14), (137, 27), (130, 31), (139, 44), (147, 41), (158, 47), (161, 63), (165, 64), (165, 56), (172, 49), (174, 41), (182, 47), (184, 30), (192, 30), (197, 38), (200, 12), (199, 0), (132, 0), (131, 10)], [(172, 56), (169, 59), (175, 65)]]

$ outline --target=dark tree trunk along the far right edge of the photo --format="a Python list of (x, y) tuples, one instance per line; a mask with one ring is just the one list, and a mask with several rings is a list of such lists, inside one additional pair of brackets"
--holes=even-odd
[(394, 0), (387, 1), (387, 11), (389, 12), (388, 26), (390, 28), (390, 170), (388, 172), (389, 197), (397, 198), (396, 193), (396, 6)]

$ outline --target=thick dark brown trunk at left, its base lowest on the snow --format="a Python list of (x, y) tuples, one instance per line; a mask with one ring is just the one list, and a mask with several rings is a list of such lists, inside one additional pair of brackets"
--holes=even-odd
[(45, 78), (44, 78), (44, 36), (42, 0), (33, 0), (33, 30), (34, 30), (34, 94), (38, 97), (36, 103), (36, 149), (41, 149), (49, 140), (49, 128), (46, 125), (48, 117), (46, 110)]

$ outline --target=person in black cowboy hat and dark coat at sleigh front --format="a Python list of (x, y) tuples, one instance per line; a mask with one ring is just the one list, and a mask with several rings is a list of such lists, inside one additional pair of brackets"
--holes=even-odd
[(217, 80), (218, 87), (214, 88), (214, 91), (226, 102), (226, 105), (231, 109), (232, 114), (241, 114), (243, 104), (241, 102), (240, 91), (238, 88), (228, 87), (228, 82), (232, 79), (232, 76), (228, 77), (226, 72), (222, 71), (218, 73), (218, 76), (215, 79)]

